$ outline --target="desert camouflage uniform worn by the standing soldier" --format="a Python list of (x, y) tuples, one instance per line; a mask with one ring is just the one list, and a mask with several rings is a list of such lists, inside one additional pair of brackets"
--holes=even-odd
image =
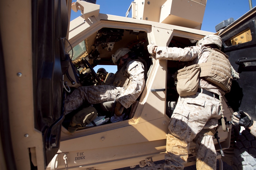
[[(186, 48), (157, 47), (156, 59), (207, 61), (210, 49), (198, 45)], [(199, 78), (199, 87), (217, 95), (224, 95), (217, 86)], [(214, 129), (221, 117), (219, 99), (197, 92), (192, 96), (179, 97), (168, 126), (164, 169), (183, 169), (187, 163), (191, 141), (196, 143), (197, 169), (216, 169), (216, 151), (213, 136), (199, 133), (202, 129)]]

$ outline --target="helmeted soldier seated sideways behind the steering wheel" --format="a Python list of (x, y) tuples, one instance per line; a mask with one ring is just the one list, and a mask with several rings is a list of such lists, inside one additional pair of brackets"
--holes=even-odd
[(109, 85), (78, 87), (66, 98), (65, 114), (78, 109), (83, 103), (97, 104), (117, 99), (114, 112), (121, 116), (124, 108), (129, 108), (135, 102), (145, 86), (144, 66), (133, 57), (128, 48), (116, 50), (112, 60), (121, 68), (111, 82), (106, 82)]

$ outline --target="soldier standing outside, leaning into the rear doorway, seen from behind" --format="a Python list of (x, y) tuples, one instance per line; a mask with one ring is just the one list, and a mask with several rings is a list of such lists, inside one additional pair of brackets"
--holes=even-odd
[(221, 117), (222, 95), (230, 90), (232, 67), (220, 51), (222, 40), (208, 35), (196, 46), (157, 47), (148, 45), (156, 59), (189, 61), (178, 71), (179, 98), (168, 125), (164, 169), (183, 169), (191, 141), (196, 143), (196, 168), (216, 169), (214, 130)]

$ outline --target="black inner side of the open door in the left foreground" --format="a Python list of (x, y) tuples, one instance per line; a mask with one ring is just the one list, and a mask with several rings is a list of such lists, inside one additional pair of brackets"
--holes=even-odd
[(70, 59), (65, 52), (70, 17), (65, 0), (32, 1), (32, 6), (35, 128), (43, 135), (47, 166), (59, 149), (64, 120), (62, 75)]

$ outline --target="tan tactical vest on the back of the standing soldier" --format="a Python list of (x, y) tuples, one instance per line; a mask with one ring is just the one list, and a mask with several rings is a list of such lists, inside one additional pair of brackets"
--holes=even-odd
[(200, 77), (228, 93), (232, 81), (232, 66), (228, 56), (218, 49), (208, 49), (210, 49), (210, 54), (207, 62), (199, 64)]

